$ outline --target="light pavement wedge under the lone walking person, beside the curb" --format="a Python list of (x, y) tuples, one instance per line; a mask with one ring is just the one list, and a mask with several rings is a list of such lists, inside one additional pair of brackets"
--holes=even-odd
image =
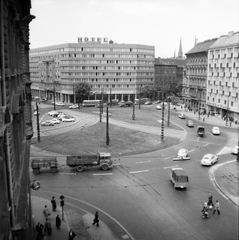
[(118, 238), (112, 233), (112, 231), (102, 222), (99, 222), (99, 227), (93, 226), (94, 216), (87, 213), (82, 216), (87, 233), (90, 239), (94, 240), (117, 240)]

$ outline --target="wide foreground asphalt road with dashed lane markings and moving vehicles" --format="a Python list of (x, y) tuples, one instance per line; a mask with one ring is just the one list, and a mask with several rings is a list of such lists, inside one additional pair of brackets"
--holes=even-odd
[[(238, 239), (238, 208), (217, 192), (209, 168), (200, 165), (204, 154), (220, 153), (236, 135), (222, 128), (220, 136), (213, 136), (211, 126), (205, 124), (205, 137), (198, 138), (195, 129), (187, 128), (176, 113), (172, 113), (171, 121), (187, 131), (185, 140), (177, 146), (116, 159), (114, 169), (108, 172), (94, 168), (75, 173), (62, 166), (59, 174), (44, 172), (34, 178), (41, 181), (44, 191), (64, 194), (70, 201), (76, 199), (76, 206), (83, 207), (83, 202), (109, 214), (137, 240)], [(173, 161), (181, 147), (189, 150), (191, 159)], [(228, 154), (219, 156), (220, 163), (228, 160)], [(169, 180), (172, 166), (183, 167), (188, 173), (187, 190), (173, 188)], [(203, 220), (201, 209), (209, 192), (214, 201), (219, 200), (221, 215)], [(115, 228), (112, 226), (117, 231)]]

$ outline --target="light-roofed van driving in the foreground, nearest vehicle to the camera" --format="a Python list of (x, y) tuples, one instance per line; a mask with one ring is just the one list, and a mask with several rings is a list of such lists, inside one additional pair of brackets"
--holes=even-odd
[(174, 188), (187, 188), (188, 176), (182, 168), (171, 168), (170, 180)]

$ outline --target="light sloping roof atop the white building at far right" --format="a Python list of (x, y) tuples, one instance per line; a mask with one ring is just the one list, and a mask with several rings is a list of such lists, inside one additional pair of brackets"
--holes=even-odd
[(234, 46), (239, 44), (239, 32), (229, 32), (228, 35), (223, 35), (210, 46), (212, 48), (221, 48), (227, 46)]

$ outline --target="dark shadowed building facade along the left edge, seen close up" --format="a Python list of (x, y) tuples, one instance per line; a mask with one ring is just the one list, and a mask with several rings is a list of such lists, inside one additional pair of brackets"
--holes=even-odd
[(0, 239), (30, 240), (31, 1), (0, 0)]

